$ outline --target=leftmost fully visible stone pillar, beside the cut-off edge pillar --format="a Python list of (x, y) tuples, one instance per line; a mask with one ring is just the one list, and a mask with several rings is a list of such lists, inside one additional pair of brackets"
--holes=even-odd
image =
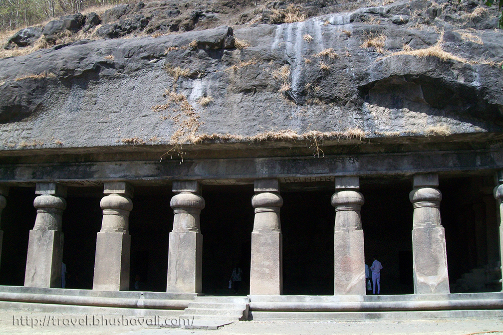
[(25, 286), (61, 287), (61, 222), (66, 208), (66, 186), (37, 183), (35, 194), (39, 194), (33, 201), (37, 217), (28, 241)]

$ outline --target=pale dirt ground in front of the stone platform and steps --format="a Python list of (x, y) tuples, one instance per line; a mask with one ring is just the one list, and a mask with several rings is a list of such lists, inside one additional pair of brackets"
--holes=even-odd
[[(107, 316), (105, 316), (107, 317)], [(117, 316), (108, 316), (116, 318)], [(45, 318), (45, 320), (44, 320)], [(131, 319), (130, 317), (128, 319)], [(59, 325), (57, 324), (59, 321)], [(130, 320), (129, 320), (130, 321)], [(86, 325), (87, 322), (87, 325)], [(166, 328), (146, 325), (101, 325), (91, 316), (0, 310), (0, 334), (503, 334), (503, 320), (496, 318), (364, 320), (364, 321), (239, 321), (216, 330)], [(122, 322), (122, 321), (121, 321)], [(155, 322), (155, 320), (154, 320)], [(43, 323), (43, 324), (42, 324)], [(63, 324), (64, 323), (64, 324)], [(79, 324), (80, 323), (80, 324)], [(152, 319), (150, 322), (152, 323)]]

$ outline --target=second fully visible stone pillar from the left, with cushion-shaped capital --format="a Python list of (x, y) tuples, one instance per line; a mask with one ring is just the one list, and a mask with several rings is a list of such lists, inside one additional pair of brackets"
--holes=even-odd
[(93, 290), (129, 290), (131, 236), (129, 212), (133, 209), (133, 186), (125, 182), (105, 183), (101, 199), (103, 221), (96, 237)]

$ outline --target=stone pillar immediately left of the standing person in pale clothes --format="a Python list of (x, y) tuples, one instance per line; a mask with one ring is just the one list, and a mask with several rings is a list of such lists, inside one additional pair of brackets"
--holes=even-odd
[(365, 252), (360, 209), (365, 200), (359, 177), (336, 178), (332, 206), (336, 207), (333, 235), (334, 294), (365, 295)]

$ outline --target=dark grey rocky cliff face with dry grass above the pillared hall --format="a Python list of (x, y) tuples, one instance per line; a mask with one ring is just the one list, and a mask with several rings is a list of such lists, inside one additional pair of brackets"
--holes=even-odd
[(386, 3), (278, 24), (276, 12), (250, 9), (233, 27), (2, 59), (0, 147), (501, 133), (495, 13), (478, 2)]

